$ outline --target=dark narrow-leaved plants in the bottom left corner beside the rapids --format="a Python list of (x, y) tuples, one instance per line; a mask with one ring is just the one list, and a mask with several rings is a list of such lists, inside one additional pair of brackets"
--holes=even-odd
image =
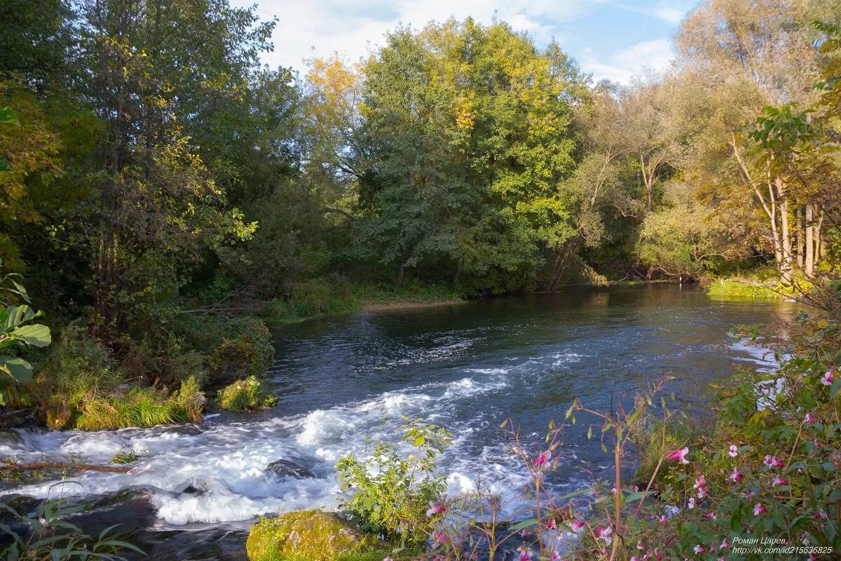
[[(85, 509), (85, 505), (64, 505), (61, 500), (42, 500), (34, 516), (25, 516), (10, 505), (0, 503), (0, 510), (12, 523), (0, 523), (8, 545), (0, 551), (5, 561), (68, 561), (103, 559), (119, 561), (119, 553), (133, 551), (144, 554), (135, 545), (115, 539), (114, 526), (98, 537), (88, 536), (66, 518)], [(6, 541), (4, 539), (4, 541)]]

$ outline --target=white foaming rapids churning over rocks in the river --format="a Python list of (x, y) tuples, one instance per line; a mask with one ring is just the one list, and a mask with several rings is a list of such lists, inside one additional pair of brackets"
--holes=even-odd
[[(45, 481), (5, 490), (35, 497), (101, 495), (141, 485), (153, 490), (152, 504), (165, 525), (247, 520), (276, 511), (335, 508), (340, 485), (336, 461), (348, 453), (366, 456), (371, 443), (399, 442), (402, 415), (433, 418), (452, 410), (454, 400), (475, 399), (505, 388), (511, 368), (469, 371), (471, 376), (447, 383), (423, 384), (390, 391), (368, 400), (309, 411), (267, 421), (210, 426), (155, 427), (119, 431), (19, 431), (21, 440), (3, 442), (4, 455), (21, 459), (83, 457), (109, 463), (114, 453), (133, 447), (149, 455), (133, 463), (128, 474), (83, 472), (71, 479)], [(501, 465), (486, 451), (477, 458), (470, 445), (471, 425), (479, 417), (453, 421), (457, 435), (442, 456), (447, 485), (463, 492), (477, 481), (495, 492), (510, 492), (524, 474)], [(471, 452), (473, 450), (473, 452)], [(500, 453), (496, 450), (495, 453)], [(314, 478), (294, 479), (268, 474), (269, 463), (288, 459), (309, 469)], [(56, 485), (57, 484), (57, 485)], [(188, 486), (198, 492), (184, 493)]]

